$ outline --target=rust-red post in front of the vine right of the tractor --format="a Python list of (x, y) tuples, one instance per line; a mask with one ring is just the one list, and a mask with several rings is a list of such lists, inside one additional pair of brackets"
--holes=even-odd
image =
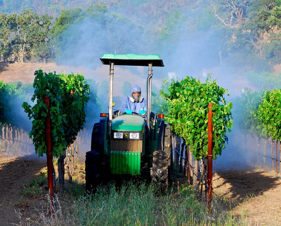
[(208, 208), (212, 205), (212, 103), (208, 105)]

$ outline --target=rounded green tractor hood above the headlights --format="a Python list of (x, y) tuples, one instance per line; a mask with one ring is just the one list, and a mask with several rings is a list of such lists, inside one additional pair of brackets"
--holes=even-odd
[(142, 116), (122, 114), (112, 120), (112, 130), (143, 131), (145, 121)]

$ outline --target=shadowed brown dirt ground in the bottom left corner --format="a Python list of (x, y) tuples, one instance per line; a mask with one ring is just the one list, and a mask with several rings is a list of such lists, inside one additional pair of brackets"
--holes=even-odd
[(0, 155), (0, 225), (23, 225), (38, 216), (42, 203), (47, 203), (45, 195), (26, 197), (21, 192), (25, 184), (30, 184), (36, 175), (45, 171), (46, 165), (45, 160), (34, 156), (10, 158)]

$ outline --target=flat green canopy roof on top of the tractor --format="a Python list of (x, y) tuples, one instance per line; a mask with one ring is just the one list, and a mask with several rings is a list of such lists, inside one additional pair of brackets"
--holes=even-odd
[(148, 64), (152, 64), (152, 66), (164, 66), (159, 55), (155, 54), (138, 55), (105, 53), (99, 59), (103, 64), (110, 64), (110, 62), (112, 62), (115, 65), (127, 66), (148, 66)]

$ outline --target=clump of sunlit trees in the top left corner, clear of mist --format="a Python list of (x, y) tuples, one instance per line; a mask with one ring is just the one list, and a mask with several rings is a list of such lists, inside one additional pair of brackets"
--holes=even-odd
[(46, 60), (53, 56), (50, 29), (52, 17), (38, 16), (32, 10), (21, 14), (0, 14), (0, 43), (4, 60), (24, 62), (32, 57)]

